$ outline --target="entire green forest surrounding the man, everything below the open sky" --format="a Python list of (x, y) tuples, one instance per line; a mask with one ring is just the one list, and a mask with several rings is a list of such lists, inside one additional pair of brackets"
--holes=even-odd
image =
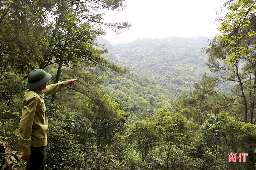
[(0, 1), (0, 169), (26, 169), (21, 103), (41, 68), (77, 79), (44, 98), (47, 170), (255, 170), (255, 3), (225, 2), (215, 37), (111, 45), (101, 25), (131, 24), (101, 12), (124, 0)]

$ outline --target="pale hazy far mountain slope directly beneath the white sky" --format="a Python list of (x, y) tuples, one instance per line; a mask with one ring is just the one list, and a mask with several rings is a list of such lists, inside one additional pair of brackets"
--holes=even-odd
[(109, 49), (105, 57), (149, 77), (152, 84), (165, 86), (175, 96), (192, 90), (194, 81), (200, 80), (204, 72), (213, 75), (206, 66), (208, 57), (202, 52), (208, 45), (204, 37), (137, 39), (116, 46), (104, 39), (99, 41)]

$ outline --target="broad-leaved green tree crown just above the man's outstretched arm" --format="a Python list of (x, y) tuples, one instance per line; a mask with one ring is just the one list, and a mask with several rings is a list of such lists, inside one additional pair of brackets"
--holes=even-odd
[(92, 46), (94, 36), (91, 26), (81, 24), (71, 14), (64, 15), (62, 25), (52, 38), (48, 38), (50, 51), (39, 65), (45, 68), (49, 64), (62, 62), (65, 66), (77, 67), (76, 63), (83, 61), (95, 64), (99, 60), (96, 55), (99, 52)]

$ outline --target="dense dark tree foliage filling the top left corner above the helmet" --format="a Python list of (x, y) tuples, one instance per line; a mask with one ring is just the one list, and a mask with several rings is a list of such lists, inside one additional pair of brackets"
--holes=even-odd
[[(53, 2), (53, 1), (52, 1)], [(0, 67), (5, 71), (26, 74), (35, 68), (46, 50), (43, 37), (51, 25), (47, 24), (51, 8), (39, 1), (3, 0), (0, 2)]]

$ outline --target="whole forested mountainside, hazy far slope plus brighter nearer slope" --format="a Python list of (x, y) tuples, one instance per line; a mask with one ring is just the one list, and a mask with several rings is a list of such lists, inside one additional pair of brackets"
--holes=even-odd
[(98, 38), (98, 43), (109, 51), (103, 57), (130, 70), (123, 77), (105, 80), (105, 86), (130, 108), (131, 120), (149, 117), (158, 108), (175, 111), (174, 100), (181, 92), (192, 92), (204, 73), (213, 75), (202, 52), (209, 44), (203, 37), (137, 39), (116, 46)]

